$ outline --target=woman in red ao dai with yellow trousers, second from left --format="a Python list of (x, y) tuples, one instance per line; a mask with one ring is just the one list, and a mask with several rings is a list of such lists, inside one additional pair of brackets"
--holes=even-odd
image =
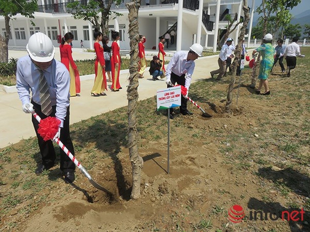
[(95, 82), (94, 86), (91, 89), (91, 96), (99, 97), (99, 96), (106, 96), (107, 94), (104, 90), (107, 90), (107, 79), (105, 76), (105, 60), (103, 57), (103, 47), (100, 45), (100, 41), (102, 41), (102, 33), (95, 28), (94, 32), (94, 49), (96, 53), (96, 60), (95, 60)]

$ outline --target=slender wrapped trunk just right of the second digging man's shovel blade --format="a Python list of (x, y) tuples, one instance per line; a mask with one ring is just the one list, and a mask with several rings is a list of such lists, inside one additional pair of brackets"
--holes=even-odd
[(226, 101), (226, 106), (225, 106), (226, 113), (232, 112), (232, 91), (233, 91), (233, 87), (234, 87), (235, 81), (236, 81), (236, 70), (237, 70), (237, 68), (239, 68), (239, 60), (241, 59), (241, 44), (242, 44), (242, 40), (244, 38), (244, 35), (246, 33), (246, 27), (248, 26), (248, 23), (250, 20), (248, 1), (247, 0), (243, 0), (243, 7), (242, 8), (244, 11), (244, 21), (243, 21), (243, 25), (242, 25), (241, 30), (240, 30), (240, 35), (238, 37), (238, 44), (237, 44), (236, 50), (235, 50), (235, 58), (234, 58), (232, 64), (230, 65), (230, 67), (232, 69), (232, 77), (230, 79), (230, 84), (227, 87), (227, 89), (228, 89), (227, 101)]

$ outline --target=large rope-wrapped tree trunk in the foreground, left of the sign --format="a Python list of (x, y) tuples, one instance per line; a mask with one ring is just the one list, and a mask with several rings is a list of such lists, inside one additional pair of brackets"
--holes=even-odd
[(138, 131), (136, 118), (136, 105), (138, 99), (138, 42), (139, 42), (139, 23), (138, 10), (140, 1), (126, 3), (129, 10), (129, 38), (130, 38), (130, 67), (129, 85), (127, 88), (128, 99), (128, 148), (132, 167), (132, 191), (131, 199), (140, 197), (141, 169), (143, 159), (138, 153)]

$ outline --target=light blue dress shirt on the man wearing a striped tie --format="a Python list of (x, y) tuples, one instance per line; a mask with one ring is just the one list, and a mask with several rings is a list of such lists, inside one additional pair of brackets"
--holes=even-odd
[[(59, 61), (53, 60), (50, 67), (43, 71), (50, 92), (51, 103), (56, 105), (56, 118), (61, 121), (63, 127), (69, 106), (70, 74), (68, 69)], [(30, 103), (30, 90), (32, 100), (41, 105), (39, 93), (40, 71), (31, 61), (24, 56), (18, 59), (16, 67), (16, 88), (22, 104)]]

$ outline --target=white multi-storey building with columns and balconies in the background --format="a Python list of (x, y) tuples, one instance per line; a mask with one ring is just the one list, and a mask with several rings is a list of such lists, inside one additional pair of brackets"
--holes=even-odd
[[(38, 0), (38, 9), (31, 19), (35, 26), (20, 14), (10, 20), (11, 35), (9, 47), (25, 47), (29, 37), (35, 32), (47, 34), (53, 41), (54, 46), (59, 46), (57, 37), (63, 37), (64, 33), (72, 32), (74, 35), (73, 47), (79, 48), (83, 40), (85, 48), (93, 49), (93, 26), (89, 21), (74, 19), (67, 13), (67, 4), (72, 0)], [(80, 4), (87, 4), (86, 0), (79, 1)], [(116, 19), (109, 21), (109, 30), (120, 32), (120, 48), (130, 50), (129, 45), (129, 20), (126, 3), (130, 0), (123, 0), (118, 6), (112, 5), (111, 11), (121, 13)], [(150, 0), (146, 5), (141, 0), (139, 9), (139, 32), (147, 38), (145, 49), (157, 48), (158, 37), (164, 36), (167, 32), (175, 31), (174, 44), (169, 47), (172, 50), (188, 50), (193, 43), (200, 43), (203, 47), (216, 50), (216, 40), (224, 35), (228, 21), (225, 15), (231, 15), (237, 23), (242, 20), (243, 0)], [(250, 22), (248, 44), (252, 29), (255, 0), (249, 0)], [(113, 15), (112, 15), (113, 16)], [(229, 36), (237, 41), (238, 33), (242, 23)], [(0, 17), (1, 33), (5, 35), (4, 17)], [(220, 31), (219, 29), (222, 29)], [(220, 32), (220, 35), (218, 33)], [(222, 41), (223, 43), (223, 41)]]

